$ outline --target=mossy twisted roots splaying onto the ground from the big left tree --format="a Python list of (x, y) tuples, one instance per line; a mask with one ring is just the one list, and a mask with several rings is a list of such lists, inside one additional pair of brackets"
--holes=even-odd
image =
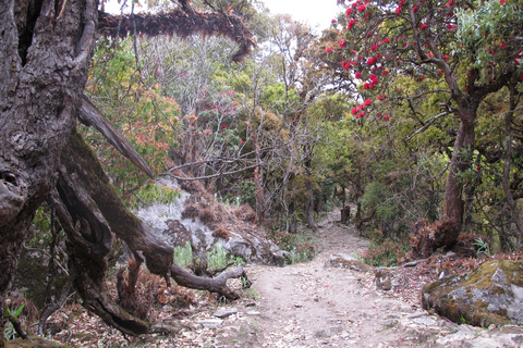
[(76, 274), (74, 285), (84, 306), (122, 333), (173, 333), (177, 328), (138, 320), (106, 294), (104, 276), (106, 256), (111, 249), (111, 232), (125, 240), (135, 258), (145, 259), (149, 271), (163, 276), (168, 284), (172, 276), (185, 287), (218, 293), (230, 300), (239, 298), (227, 286), (227, 279), (244, 277), (243, 269), (240, 266), (215, 278), (202, 278), (173, 264), (172, 247), (149, 233), (125, 208), (95, 153), (76, 132), (72, 133), (62, 151), (57, 190), (49, 200), (68, 234), (68, 254)]

